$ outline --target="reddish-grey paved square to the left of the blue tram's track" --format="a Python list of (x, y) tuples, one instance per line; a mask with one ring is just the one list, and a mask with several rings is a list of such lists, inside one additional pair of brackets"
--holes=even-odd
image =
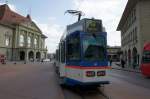
[(64, 99), (50, 63), (0, 65), (0, 99)]

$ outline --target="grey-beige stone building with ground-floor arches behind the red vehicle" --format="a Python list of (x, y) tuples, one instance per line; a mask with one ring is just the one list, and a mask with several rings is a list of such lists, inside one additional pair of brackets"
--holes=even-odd
[(144, 43), (150, 42), (150, 0), (128, 0), (117, 27), (127, 66), (138, 67)]

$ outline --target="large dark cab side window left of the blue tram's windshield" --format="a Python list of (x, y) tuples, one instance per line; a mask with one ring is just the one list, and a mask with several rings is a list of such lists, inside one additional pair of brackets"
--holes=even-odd
[(67, 44), (67, 59), (80, 60), (80, 39), (79, 37), (72, 37)]

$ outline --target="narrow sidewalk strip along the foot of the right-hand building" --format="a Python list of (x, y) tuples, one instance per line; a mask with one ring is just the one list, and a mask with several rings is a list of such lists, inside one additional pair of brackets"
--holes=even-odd
[(121, 65), (120, 65), (120, 62), (113, 62), (112, 63), (112, 69), (135, 72), (135, 73), (141, 73), (139, 68), (133, 69), (133, 68), (129, 68), (129, 67), (126, 67), (126, 66), (125, 66), (125, 68), (122, 68)]

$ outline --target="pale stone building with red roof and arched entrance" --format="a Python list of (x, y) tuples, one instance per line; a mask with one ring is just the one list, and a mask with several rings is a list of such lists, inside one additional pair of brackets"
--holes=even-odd
[(30, 15), (12, 11), (7, 4), (0, 6), (0, 54), (10, 61), (34, 61), (47, 57), (45, 39)]

